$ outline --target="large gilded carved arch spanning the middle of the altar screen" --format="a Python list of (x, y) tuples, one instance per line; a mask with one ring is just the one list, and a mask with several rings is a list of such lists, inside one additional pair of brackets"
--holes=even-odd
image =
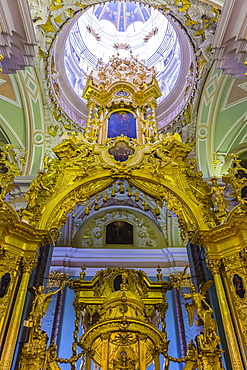
[(175, 136), (143, 148), (122, 137), (135, 153), (126, 162), (117, 162), (108, 150), (119, 138), (100, 148), (83, 135), (71, 135), (54, 148), (55, 159), (45, 159), (27, 193), (23, 217), (38, 229), (60, 229), (76, 204), (102, 192), (116, 180), (127, 180), (154, 199), (167, 203), (176, 213), (184, 239), (198, 230), (215, 225), (210, 208), (210, 187), (204, 183), (187, 155), (190, 147)]

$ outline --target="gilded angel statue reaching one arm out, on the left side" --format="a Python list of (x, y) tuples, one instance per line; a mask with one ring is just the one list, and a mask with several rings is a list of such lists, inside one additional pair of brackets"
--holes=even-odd
[(67, 281), (63, 282), (61, 287), (55, 292), (52, 292), (50, 289), (48, 293), (44, 293), (45, 288), (42, 285), (38, 286), (37, 289), (35, 287), (28, 288), (28, 291), (31, 292), (35, 298), (33, 300), (32, 310), (27, 319), (27, 323), (29, 324), (28, 326), (34, 327), (35, 332), (40, 331), (41, 320), (45, 316), (52, 296), (62, 290), (66, 283)]

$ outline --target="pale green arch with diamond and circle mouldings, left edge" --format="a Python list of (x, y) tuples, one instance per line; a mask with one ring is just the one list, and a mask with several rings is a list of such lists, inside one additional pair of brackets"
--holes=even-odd
[[(27, 67), (15, 75), (1, 75), (0, 145), (11, 143), (25, 157), (22, 175), (36, 175), (49, 147), (45, 145), (44, 106), (39, 72)], [(50, 149), (50, 148), (49, 148)]]

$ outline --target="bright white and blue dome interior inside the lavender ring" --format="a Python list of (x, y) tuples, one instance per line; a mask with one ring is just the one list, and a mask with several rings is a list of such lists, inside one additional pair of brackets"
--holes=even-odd
[(180, 70), (180, 46), (172, 24), (158, 10), (139, 3), (91, 7), (74, 23), (66, 42), (65, 67), (73, 90), (81, 96), (86, 74), (98, 60), (107, 63), (112, 55), (129, 58), (130, 52), (147, 67), (155, 67), (164, 99)]

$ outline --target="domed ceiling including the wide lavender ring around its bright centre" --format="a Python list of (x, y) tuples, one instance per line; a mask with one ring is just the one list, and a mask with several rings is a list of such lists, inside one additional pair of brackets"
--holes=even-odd
[(193, 53), (185, 31), (158, 9), (128, 1), (107, 2), (78, 14), (60, 32), (53, 50), (53, 93), (74, 123), (85, 126), (87, 107), (82, 92), (98, 61), (107, 63), (113, 55), (128, 59), (131, 54), (157, 71), (162, 91), (157, 107), (159, 126), (181, 111), (194, 79)]

